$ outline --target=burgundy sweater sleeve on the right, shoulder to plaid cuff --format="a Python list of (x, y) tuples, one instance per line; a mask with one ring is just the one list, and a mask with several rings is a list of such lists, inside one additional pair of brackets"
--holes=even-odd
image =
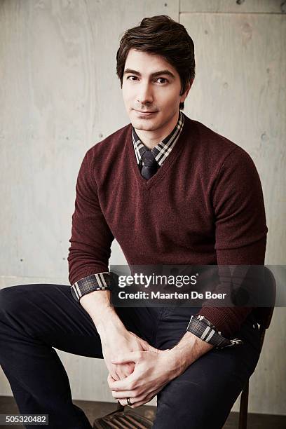
[[(224, 160), (212, 204), (217, 264), (264, 265), (268, 229), (261, 182), (252, 158), (242, 148), (234, 149)], [(229, 337), (239, 331), (251, 311), (250, 306), (213, 307), (205, 301), (198, 315)]]

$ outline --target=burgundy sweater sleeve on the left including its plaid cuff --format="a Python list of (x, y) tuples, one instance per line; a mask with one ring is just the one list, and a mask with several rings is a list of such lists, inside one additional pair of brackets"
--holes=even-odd
[(86, 153), (76, 181), (75, 210), (71, 222), (69, 282), (79, 299), (109, 285), (108, 261), (114, 236), (102, 214), (97, 185), (92, 174), (92, 149)]

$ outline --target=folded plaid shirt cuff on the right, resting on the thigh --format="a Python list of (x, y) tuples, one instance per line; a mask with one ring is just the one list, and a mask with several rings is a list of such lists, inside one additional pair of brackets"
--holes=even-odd
[(203, 341), (212, 344), (214, 348), (225, 348), (243, 344), (241, 339), (230, 340), (222, 336), (222, 333), (217, 331), (210, 320), (207, 320), (203, 315), (192, 315), (186, 330), (203, 339)]

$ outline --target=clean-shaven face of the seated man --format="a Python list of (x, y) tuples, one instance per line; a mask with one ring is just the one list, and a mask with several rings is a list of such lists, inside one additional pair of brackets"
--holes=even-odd
[[(123, 100), (130, 122), (137, 130), (163, 129), (179, 114), (181, 81), (177, 70), (161, 55), (130, 49), (123, 75)], [(148, 112), (148, 113), (144, 113)]]

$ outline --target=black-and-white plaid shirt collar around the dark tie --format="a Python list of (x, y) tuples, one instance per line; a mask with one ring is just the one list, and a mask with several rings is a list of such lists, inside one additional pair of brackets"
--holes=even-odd
[[(182, 113), (182, 111), (179, 111), (179, 118), (177, 121), (177, 125), (175, 125), (175, 128), (172, 130), (172, 132), (170, 132), (168, 137), (165, 137), (165, 139), (163, 139), (161, 142), (156, 144), (153, 149), (151, 149), (151, 152), (154, 154), (154, 157), (160, 166), (163, 164), (163, 161), (165, 161), (165, 158), (167, 158), (167, 156), (171, 153), (173, 147), (177, 142), (177, 139), (179, 138), (179, 135), (181, 134), (183, 126), (184, 114)], [(148, 150), (148, 147), (146, 147), (139, 139), (134, 127), (132, 127), (132, 142), (135, 150), (137, 164), (141, 165), (142, 155), (145, 151)]]

